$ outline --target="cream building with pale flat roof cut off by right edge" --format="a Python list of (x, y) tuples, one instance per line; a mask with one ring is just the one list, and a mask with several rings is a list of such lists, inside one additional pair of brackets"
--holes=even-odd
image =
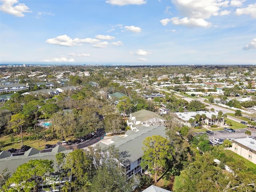
[(242, 138), (232, 140), (232, 151), (256, 164), (256, 140)]

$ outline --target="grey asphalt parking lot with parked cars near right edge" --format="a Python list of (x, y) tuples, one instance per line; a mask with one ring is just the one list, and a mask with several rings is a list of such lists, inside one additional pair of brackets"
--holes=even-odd
[[(236, 138), (236, 139), (240, 139), (240, 138), (246, 138), (246, 134), (244, 133), (246, 131), (246, 129), (236, 129), (236, 132), (232, 132), (229, 133), (227, 131), (221, 130), (221, 131), (213, 131), (214, 134), (208, 134), (206, 132), (198, 132), (195, 133), (195, 135), (198, 134), (204, 134), (206, 133), (209, 137), (209, 140), (212, 140), (213, 137), (214, 138), (218, 138), (218, 139), (226, 139), (226, 138)], [(252, 135), (254, 138), (256, 138), (256, 132), (252, 132)]]

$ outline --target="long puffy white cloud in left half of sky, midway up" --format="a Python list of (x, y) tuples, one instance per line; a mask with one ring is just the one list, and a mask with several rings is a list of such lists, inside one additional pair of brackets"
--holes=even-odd
[(92, 38), (85, 38), (85, 39), (74, 38), (74, 39), (72, 39), (67, 35), (61, 35), (61, 36), (57, 36), (56, 38), (47, 39), (45, 42), (49, 43), (49, 44), (56, 44), (56, 45), (60, 45), (60, 46), (71, 47), (71, 46), (75, 46), (75, 45), (81, 45), (80, 43), (96, 43), (96, 42), (99, 42), (99, 40), (92, 39)]

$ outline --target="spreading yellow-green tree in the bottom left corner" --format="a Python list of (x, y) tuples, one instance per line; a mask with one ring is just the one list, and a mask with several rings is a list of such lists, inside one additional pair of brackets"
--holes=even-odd
[(20, 165), (16, 172), (7, 180), (4, 185), (4, 190), (10, 191), (9, 188), (12, 184), (11, 191), (38, 192), (42, 176), (53, 172), (53, 165), (53, 160), (42, 159), (30, 160)]

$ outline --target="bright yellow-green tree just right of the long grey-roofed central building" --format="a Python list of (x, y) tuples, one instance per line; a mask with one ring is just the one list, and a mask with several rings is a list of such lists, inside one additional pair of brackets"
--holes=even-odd
[(160, 170), (166, 170), (167, 162), (172, 160), (170, 142), (159, 135), (147, 137), (143, 141), (144, 155), (142, 156), (142, 162), (140, 166), (142, 168), (148, 165), (148, 170), (155, 174), (155, 183), (157, 182), (157, 172)]

